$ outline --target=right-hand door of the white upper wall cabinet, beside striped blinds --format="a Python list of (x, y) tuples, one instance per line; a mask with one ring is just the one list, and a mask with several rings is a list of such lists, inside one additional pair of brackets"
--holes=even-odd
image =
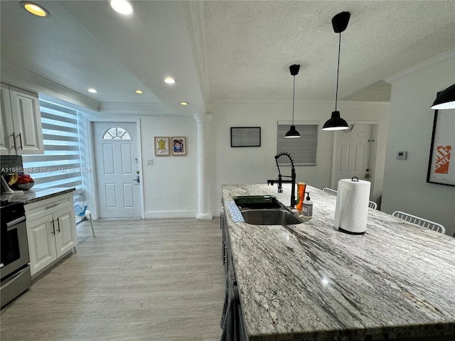
[(31, 92), (9, 87), (13, 113), (14, 138), (18, 155), (43, 154), (43, 131), (38, 96)]

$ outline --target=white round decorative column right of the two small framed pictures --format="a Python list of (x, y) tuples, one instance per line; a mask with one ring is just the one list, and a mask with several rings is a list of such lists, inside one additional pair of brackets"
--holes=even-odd
[(198, 124), (198, 215), (196, 219), (211, 220), (210, 212), (210, 114), (194, 114)]

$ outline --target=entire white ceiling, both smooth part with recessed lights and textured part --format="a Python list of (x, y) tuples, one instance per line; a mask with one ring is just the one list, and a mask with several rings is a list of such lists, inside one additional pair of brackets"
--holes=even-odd
[[(333, 100), (331, 18), (341, 11), (351, 13), (341, 33), (341, 98), (388, 101), (385, 77), (455, 48), (455, 1), (132, 1), (128, 18), (107, 1), (36, 2), (49, 18), (0, 1), (2, 70), (19, 68), (100, 104), (174, 114), (205, 112), (208, 102), (287, 101), (294, 63), (296, 99)], [(168, 75), (176, 85), (162, 82)], [(2, 80), (14, 82), (14, 72)]]

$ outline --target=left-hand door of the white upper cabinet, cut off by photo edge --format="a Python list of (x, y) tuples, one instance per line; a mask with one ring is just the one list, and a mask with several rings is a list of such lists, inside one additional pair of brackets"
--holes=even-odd
[(0, 155), (16, 155), (13, 141), (13, 115), (11, 114), (11, 101), (9, 87), (1, 83), (0, 97)]

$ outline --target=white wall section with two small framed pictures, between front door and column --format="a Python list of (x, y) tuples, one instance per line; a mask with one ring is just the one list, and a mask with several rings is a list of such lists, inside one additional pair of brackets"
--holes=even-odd
[[(191, 117), (141, 118), (145, 217), (196, 217), (198, 142)], [(155, 156), (154, 136), (186, 136), (186, 156)], [(152, 158), (153, 166), (146, 165)]]

